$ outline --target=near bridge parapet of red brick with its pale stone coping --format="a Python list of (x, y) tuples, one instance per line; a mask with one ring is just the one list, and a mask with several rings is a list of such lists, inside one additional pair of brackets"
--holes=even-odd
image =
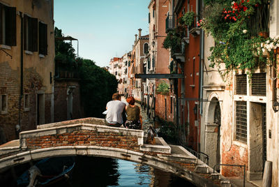
[(58, 126), (20, 133), (20, 147), (28, 150), (61, 146), (99, 146), (140, 151), (142, 144), (142, 130), (92, 124)]

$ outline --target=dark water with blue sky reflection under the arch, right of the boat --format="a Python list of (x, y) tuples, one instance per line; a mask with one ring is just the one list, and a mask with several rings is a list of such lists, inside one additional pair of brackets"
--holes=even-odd
[(70, 186), (194, 186), (148, 165), (112, 158), (77, 157)]

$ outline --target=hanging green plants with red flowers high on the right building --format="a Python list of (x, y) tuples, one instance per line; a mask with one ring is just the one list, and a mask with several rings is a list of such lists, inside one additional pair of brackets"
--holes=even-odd
[[(250, 17), (255, 16), (255, 8), (261, 3), (259, 0), (233, 3), (221, 0), (205, 1), (206, 8), (200, 25), (215, 40), (209, 57), (211, 67), (220, 68), (220, 63), (225, 63), (227, 70), (220, 72), (223, 80), (231, 70), (253, 71), (259, 63), (266, 63), (261, 47), (264, 38), (252, 36), (249, 28)], [(255, 54), (259, 56), (259, 61)]]

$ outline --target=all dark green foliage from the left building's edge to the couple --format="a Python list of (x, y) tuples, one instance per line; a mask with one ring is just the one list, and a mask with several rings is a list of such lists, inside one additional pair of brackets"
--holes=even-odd
[[(55, 28), (55, 37), (63, 36), (61, 29)], [(107, 70), (100, 68), (89, 59), (76, 59), (70, 43), (55, 40), (55, 61), (66, 70), (78, 70), (80, 75), (80, 96), (85, 117), (104, 117), (102, 112), (112, 94), (116, 92), (117, 80)]]

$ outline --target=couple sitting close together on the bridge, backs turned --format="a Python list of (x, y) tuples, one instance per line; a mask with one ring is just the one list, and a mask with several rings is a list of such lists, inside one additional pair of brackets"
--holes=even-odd
[(132, 96), (126, 99), (128, 105), (121, 101), (119, 93), (112, 95), (112, 100), (107, 103), (107, 116), (105, 124), (107, 126), (120, 127), (122, 124), (126, 128), (141, 129), (140, 107), (135, 105), (135, 98)]

